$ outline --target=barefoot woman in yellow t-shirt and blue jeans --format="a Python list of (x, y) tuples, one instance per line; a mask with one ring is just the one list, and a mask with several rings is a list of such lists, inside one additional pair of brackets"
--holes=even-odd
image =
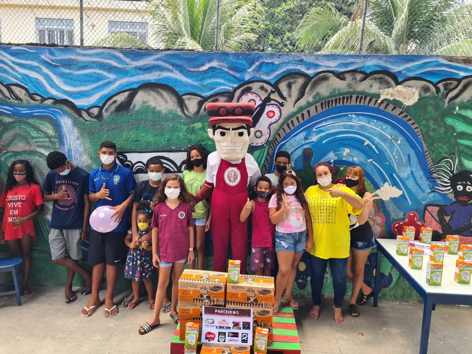
[(313, 169), (318, 182), (305, 194), (313, 225), (312, 300), (310, 316), (315, 320), (320, 313), (321, 289), (329, 262), (334, 290), (334, 320), (342, 322), (341, 306), (346, 295), (346, 269), (351, 237), (348, 214), (362, 211), (362, 199), (348, 187), (333, 185), (334, 169), (327, 162), (318, 162)]

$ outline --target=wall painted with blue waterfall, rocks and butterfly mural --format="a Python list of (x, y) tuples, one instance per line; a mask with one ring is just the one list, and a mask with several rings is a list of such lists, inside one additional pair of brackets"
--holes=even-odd
[[(147, 176), (144, 162), (156, 155), (168, 172), (181, 172), (189, 144), (214, 150), (206, 102), (253, 101), (250, 152), (262, 172), (273, 171), (280, 150), (291, 154), (305, 188), (318, 161), (331, 162), (337, 177), (361, 165), (371, 192), (386, 183), (402, 191), (375, 202), (369, 218), (375, 237), (425, 224), (436, 239), (451, 232), (472, 236), (471, 84), (472, 67), (438, 56), (0, 46), (0, 183), (17, 158), (31, 160), (43, 180), (52, 150), (90, 171), (100, 162), (103, 140), (117, 144), (119, 162), (137, 180)], [(35, 220), (32, 281), (59, 285), (66, 274), (51, 262), (50, 206), (46, 210)], [(211, 246), (207, 250), (211, 254)], [(369, 284), (373, 253), (368, 263)], [(308, 292), (310, 276), (303, 257), (300, 295)], [(413, 299), (388, 261), (381, 284), (384, 298)], [(330, 294), (330, 286), (324, 292)]]

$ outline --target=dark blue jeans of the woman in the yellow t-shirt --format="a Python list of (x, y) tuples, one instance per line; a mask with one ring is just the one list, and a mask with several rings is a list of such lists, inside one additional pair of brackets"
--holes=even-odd
[(326, 266), (329, 262), (329, 270), (331, 270), (331, 279), (333, 280), (334, 290), (334, 306), (341, 308), (346, 295), (346, 271), (347, 258), (329, 258), (322, 259), (310, 254), (310, 264), (312, 265), (312, 300), (313, 306), (320, 306), (321, 289), (323, 288), (324, 275)]

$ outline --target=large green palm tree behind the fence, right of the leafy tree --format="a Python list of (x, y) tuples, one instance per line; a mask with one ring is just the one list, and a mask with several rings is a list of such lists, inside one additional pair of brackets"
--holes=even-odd
[[(305, 51), (358, 52), (363, 0), (351, 17), (326, 2), (303, 17), (296, 32)], [(472, 5), (464, 0), (370, 0), (363, 51), (472, 55)], [(459, 54), (460, 53), (460, 54)]]

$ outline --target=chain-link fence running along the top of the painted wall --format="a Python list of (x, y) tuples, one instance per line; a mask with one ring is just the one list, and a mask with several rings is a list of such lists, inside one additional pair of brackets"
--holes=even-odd
[(0, 43), (472, 55), (472, 0), (1, 0)]

